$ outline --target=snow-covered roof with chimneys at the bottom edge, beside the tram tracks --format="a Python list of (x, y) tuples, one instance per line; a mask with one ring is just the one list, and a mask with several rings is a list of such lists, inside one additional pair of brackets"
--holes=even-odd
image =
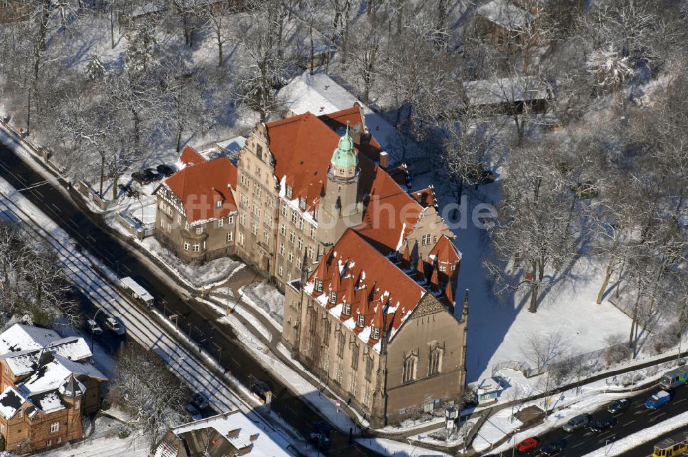
[[(251, 421), (239, 410), (218, 414), (200, 421), (194, 421), (172, 429), (172, 432), (180, 436), (198, 429), (213, 428), (226, 438), (237, 449), (250, 447), (250, 451), (244, 455), (251, 457), (286, 457), (292, 454), (286, 449), (289, 443), (272, 429), (264, 429)], [(165, 456), (164, 443), (160, 443), (155, 449), (155, 456)], [(176, 455), (176, 454), (173, 454)]]

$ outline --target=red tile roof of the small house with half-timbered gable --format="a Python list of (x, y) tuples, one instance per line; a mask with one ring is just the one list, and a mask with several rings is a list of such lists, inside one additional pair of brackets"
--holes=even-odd
[[(191, 147), (184, 148), (182, 156), (186, 159), (197, 154)], [(200, 155), (198, 157), (202, 158)], [(183, 160), (180, 157), (180, 160)], [(205, 160), (191, 164), (174, 173), (164, 181), (164, 185), (176, 195), (184, 205), (186, 220), (189, 224), (219, 219), (237, 211), (237, 204), (230, 187), (237, 185), (237, 167), (226, 157)], [(216, 202), (222, 206), (217, 208)]]

